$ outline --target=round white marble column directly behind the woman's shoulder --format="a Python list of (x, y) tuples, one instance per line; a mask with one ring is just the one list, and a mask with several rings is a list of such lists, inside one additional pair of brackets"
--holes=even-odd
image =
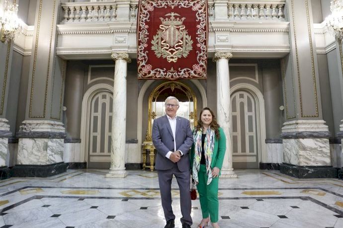
[(226, 136), (226, 153), (221, 170), (221, 177), (237, 177), (232, 168), (232, 140), (230, 122), (230, 52), (216, 52), (214, 60), (217, 63), (217, 120)]

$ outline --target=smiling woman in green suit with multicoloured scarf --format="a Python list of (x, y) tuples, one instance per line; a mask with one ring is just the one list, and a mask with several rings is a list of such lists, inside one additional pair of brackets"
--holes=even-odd
[(223, 165), (226, 139), (212, 110), (200, 112), (198, 125), (193, 130), (194, 143), (190, 152), (190, 167), (200, 196), (202, 220), (199, 228), (211, 220), (213, 228), (218, 226), (218, 179)]

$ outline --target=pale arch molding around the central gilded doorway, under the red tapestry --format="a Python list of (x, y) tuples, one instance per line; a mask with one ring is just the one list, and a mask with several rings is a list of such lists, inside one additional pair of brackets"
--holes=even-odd
[[(202, 99), (202, 107), (207, 106), (207, 97), (206, 97), (206, 91), (205, 88), (201, 85), (199, 80), (189, 80), (191, 83), (195, 85), (195, 87), (198, 89), (201, 99)], [(139, 91), (138, 95), (138, 106), (137, 106), (137, 140), (138, 140), (138, 147), (139, 152), (142, 151), (142, 123), (143, 123), (143, 99), (144, 95), (146, 94), (149, 87), (154, 83), (154, 80), (147, 80), (141, 90)], [(162, 84), (163, 82), (161, 82)]]

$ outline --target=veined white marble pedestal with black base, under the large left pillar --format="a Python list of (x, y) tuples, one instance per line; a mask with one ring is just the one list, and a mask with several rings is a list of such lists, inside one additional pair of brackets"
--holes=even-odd
[(63, 162), (66, 137), (63, 123), (25, 120), (16, 137), (19, 142), (17, 164), (11, 170), (13, 176), (47, 177), (67, 170)]

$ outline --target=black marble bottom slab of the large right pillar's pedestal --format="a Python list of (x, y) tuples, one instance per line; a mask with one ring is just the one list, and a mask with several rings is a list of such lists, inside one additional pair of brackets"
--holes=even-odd
[(338, 169), (332, 166), (294, 166), (290, 164), (280, 164), (280, 173), (306, 179), (306, 178), (337, 178)]

